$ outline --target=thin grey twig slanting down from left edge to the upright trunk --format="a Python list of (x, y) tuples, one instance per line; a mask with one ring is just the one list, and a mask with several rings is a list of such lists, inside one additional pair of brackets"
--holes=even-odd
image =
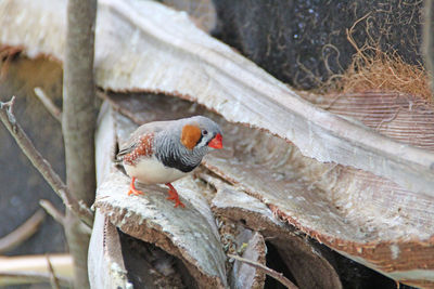
[(9, 132), (15, 139), (20, 148), (31, 161), (36, 169), (42, 174), (46, 181), (50, 184), (53, 191), (62, 198), (65, 206), (71, 209), (78, 218), (81, 219), (86, 224), (92, 226), (93, 214), (89, 208), (84, 208), (79, 202), (69, 194), (68, 188), (63, 183), (62, 179), (54, 172), (51, 165), (41, 156), (41, 154), (35, 148), (27, 134), (23, 131), (21, 126), (16, 122), (15, 116), (13, 115), (13, 104), (15, 96), (12, 96), (8, 103), (0, 102), (0, 119), (7, 127)]

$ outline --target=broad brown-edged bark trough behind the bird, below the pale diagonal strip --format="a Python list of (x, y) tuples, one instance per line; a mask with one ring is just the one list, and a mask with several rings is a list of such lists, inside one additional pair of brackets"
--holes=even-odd
[[(318, 162), (280, 137), (231, 124), (192, 103), (157, 95), (110, 100), (138, 123), (192, 114), (213, 118), (222, 128), (225, 148), (205, 157), (205, 167), (342, 254), (396, 280), (422, 278), (424, 287), (431, 286), (432, 198), (370, 172)], [(118, 123), (128, 121), (118, 118)]]

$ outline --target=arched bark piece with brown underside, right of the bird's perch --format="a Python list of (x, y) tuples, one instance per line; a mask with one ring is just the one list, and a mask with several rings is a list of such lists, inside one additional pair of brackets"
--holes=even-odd
[(342, 288), (336, 271), (321, 254), (320, 246), (278, 220), (258, 199), (216, 179), (207, 180), (217, 187), (213, 211), (261, 232), (278, 248), (299, 288)]

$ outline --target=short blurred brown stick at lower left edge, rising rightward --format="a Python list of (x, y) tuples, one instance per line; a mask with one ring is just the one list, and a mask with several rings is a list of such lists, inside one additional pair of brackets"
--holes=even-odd
[(12, 250), (23, 241), (27, 240), (30, 236), (33, 236), (38, 231), (38, 227), (42, 223), (46, 213), (42, 210), (38, 210), (21, 226), (9, 233), (7, 236), (2, 237), (0, 239), (0, 253)]

